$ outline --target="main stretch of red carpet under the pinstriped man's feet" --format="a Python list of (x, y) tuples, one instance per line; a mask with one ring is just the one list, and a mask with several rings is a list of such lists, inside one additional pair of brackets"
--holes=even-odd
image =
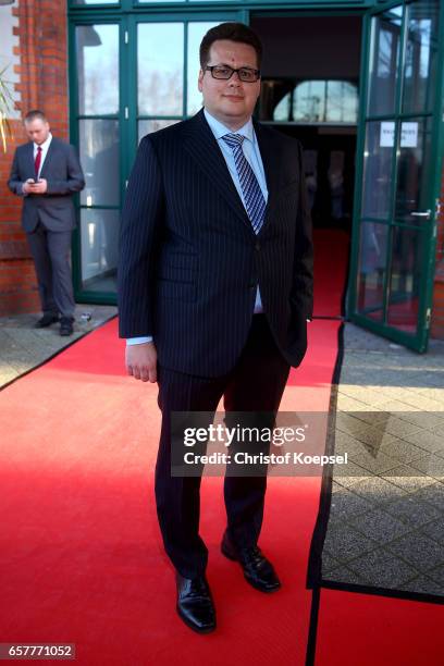
[[(326, 408), (337, 326), (310, 324), (310, 353), (283, 409)], [(156, 398), (155, 386), (124, 375), (115, 321), (2, 393), (0, 642), (76, 643), (82, 666), (166, 665), (178, 654), (184, 665), (222, 665), (227, 653), (304, 664), (320, 480), (270, 479), (261, 545), (284, 583), (270, 596), (219, 553), (222, 482), (203, 480), (219, 630), (194, 634), (175, 614), (155, 514)]]

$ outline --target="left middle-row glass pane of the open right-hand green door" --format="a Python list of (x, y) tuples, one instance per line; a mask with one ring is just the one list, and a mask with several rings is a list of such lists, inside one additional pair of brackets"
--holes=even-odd
[(391, 214), (394, 122), (367, 123), (363, 152), (362, 217), (388, 219)]

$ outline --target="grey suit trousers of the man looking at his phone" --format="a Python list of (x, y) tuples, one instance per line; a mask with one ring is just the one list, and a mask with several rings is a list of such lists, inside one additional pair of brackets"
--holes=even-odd
[(71, 278), (71, 231), (53, 232), (41, 222), (26, 234), (36, 267), (38, 292), (44, 314), (74, 316), (74, 294)]

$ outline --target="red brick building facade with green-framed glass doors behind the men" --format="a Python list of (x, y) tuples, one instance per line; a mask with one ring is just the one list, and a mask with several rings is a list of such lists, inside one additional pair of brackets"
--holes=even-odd
[[(200, 39), (243, 21), (264, 42), (257, 115), (301, 140), (314, 224), (349, 237), (347, 317), (420, 351), (430, 334), (444, 338), (440, 0), (14, 0), (0, 12), (17, 109), (44, 109), (85, 171), (78, 301), (115, 303), (120, 209), (138, 141), (199, 110)], [(20, 201), (5, 186), (25, 140), (20, 118), (11, 123), (0, 166), (3, 314), (38, 310)]]

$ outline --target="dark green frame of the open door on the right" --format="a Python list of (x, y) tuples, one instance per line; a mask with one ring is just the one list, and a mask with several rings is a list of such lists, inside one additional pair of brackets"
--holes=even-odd
[[(357, 143), (357, 168), (356, 168), (356, 181), (355, 181), (355, 201), (354, 201), (354, 223), (351, 234), (351, 254), (350, 254), (350, 269), (349, 269), (349, 288), (347, 297), (347, 318), (354, 323), (361, 325), (373, 333), (383, 335), (394, 342), (410, 347), (416, 351), (427, 351), (429, 342), (429, 330), (430, 330), (430, 316), (433, 299), (433, 276), (435, 270), (435, 250), (436, 250), (436, 224), (437, 224), (437, 212), (439, 201), (441, 196), (441, 177), (443, 169), (443, 151), (444, 151), (444, 122), (443, 122), (443, 100), (444, 100), (444, 3), (440, 3), (440, 17), (439, 17), (439, 46), (437, 46), (437, 71), (436, 71), (436, 97), (434, 101), (434, 109), (432, 115), (432, 139), (433, 146), (430, 157), (430, 168), (432, 170), (432, 185), (430, 194), (430, 210), (431, 218), (428, 221), (428, 229), (424, 230), (424, 243), (422, 246), (422, 270), (421, 287), (419, 294), (419, 311), (418, 311), (418, 326), (416, 335), (411, 335), (404, 331), (399, 331), (394, 326), (386, 323), (380, 323), (365, 317), (358, 311), (358, 262), (359, 262), (359, 244), (360, 244), (360, 212), (362, 207), (362, 178), (363, 178), (363, 161), (365, 161), (365, 145), (366, 145), (366, 121), (367, 119), (367, 103), (368, 103), (368, 91), (369, 91), (369, 57), (370, 53), (370, 39), (371, 39), (371, 27), (372, 20), (374, 16), (384, 13), (385, 11), (395, 7), (405, 7), (415, 3), (417, 0), (390, 0), (386, 2), (379, 3), (378, 7), (367, 11), (363, 20), (362, 30), (362, 57), (361, 57), (361, 71), (360, 71), (360, 100), (359, 100), (359, 121), (358, 121), (358, 143)], [(402, 76), (404, 67), (404, 45), (405, 45), (405, 33), (406, 33), (406, 18), (405, 12), (403, 12), (403, 25), (400, 35), (400, 58), (397, 65), (397, 86), (396, 86), (396, 113), (392, 114), (393, 118), (405, 119), (407, 114), (400, 114), (400, 95), (402, 95)], [(414, 114), (410, 114), (414, 115)], [(418, 118), (421, 113), (415, 113)], [(381, 116), (380, 120), (383, 120)], [(396, 133), (394, 137), (394, 145), (397, 145), (399, 123), (396, 123)], [(392, 162), (392, 194), (396, 188), (396, 164), (395, 160)], [(393, 197), (392, 197), (393, 198)], [(391, 226), (388, 227), (391, 229)], [(386, 254), (387, 260), (391, 258), (391, 239), (388, 238), (388, 247)], [(386, 267), (387, 268), (387, 267)], [(388, 270), (385, 271), (384, 278), (384, 312), (385, 301), (387, 297), (387, 280)]]

